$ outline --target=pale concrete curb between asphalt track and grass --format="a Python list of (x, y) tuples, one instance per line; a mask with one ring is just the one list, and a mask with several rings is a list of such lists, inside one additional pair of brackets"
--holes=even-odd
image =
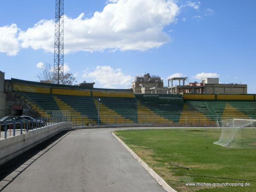
[(165, 189), (167, 192), (177, 192), (175, 189), (172, 189), (171, 186), (169, 186), (165, 180), (163, 180), (162, 177), (160, 177), (156, 172), (154, 172), (153, 169), (151, 169), (147, 163), (145, 163), (136, 153), (134, 153), (133, 150), (131, 150), (131, 148), (129, 148), (121, 139), (119, 139), (119, 137), (116, 136), (116, 134), (114, 134), (111, 131), (112, 135), (114, 137), (116, 137), (116, 139), (119, 141), (119, 143), (121, 143), (121, 145), (123, 145), (127, 151), (144, 167), (144, 169), (157, 181), (158, 184), (160, 184), (160, 186), (163, 187), (163, 189)]

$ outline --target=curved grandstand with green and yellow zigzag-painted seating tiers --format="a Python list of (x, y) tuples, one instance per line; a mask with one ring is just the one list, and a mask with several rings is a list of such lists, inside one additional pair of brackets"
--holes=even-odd
[(69, 118), (77, 125), (217, 126), (222, 119), (256, 118), (254, 94), (134, 94), (130, 89), (86, 88), (19, 79), (5, 80), (5, 93), (7, 115), (50, 117), (56, 111), (68, 111)]

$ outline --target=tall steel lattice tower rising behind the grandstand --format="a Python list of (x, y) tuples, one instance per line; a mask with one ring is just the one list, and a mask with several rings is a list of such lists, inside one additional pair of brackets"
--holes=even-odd
[(55, 44), (53, 83), (63, 84), (64, 76), (64, 0), (56, 0), (55, 5)]

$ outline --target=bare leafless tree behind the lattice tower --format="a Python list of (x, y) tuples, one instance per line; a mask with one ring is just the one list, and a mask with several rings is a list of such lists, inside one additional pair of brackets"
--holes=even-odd
[[(50, 63), (44, 64), (41, 67), (41, 72), (38, 73), (37, 78), (39, 81), (47, 81), (49, 83), (53, 82), (53, 67)], [(65, 73), (63, 76), (63, 84), (72, 85), (77, 82), (73, 73)], [(62, 84), (62, 83), (61, 83)]]

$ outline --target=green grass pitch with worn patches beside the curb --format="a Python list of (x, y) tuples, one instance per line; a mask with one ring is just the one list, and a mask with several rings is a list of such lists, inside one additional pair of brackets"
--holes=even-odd
[[(255, 137), (256, 130), (251, 131), (251, 137)], [(207, 129), (207, 145), (205, 130), (199, 128), (187, 129), (187, 131), (185, 129), (122, 130), (115, 131), (115, 134), (179, 192), (256, 191), (256, 149), (224, 148), (213, 144), (219, 139), (220, 129)], [(191, 170), (180, 167), (173, 169), (175, 165)], [(185, 185), (185, 183), (226, 182), (244, 185), (250, 183), (250, 186)]]

